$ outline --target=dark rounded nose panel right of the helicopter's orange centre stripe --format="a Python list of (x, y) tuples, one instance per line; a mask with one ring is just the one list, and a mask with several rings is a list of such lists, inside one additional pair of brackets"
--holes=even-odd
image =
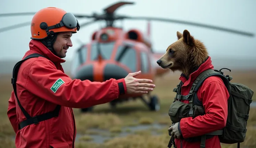
[(104, 81), (109, 80), (111, 78), (116, 80), (122, 79), (129, 74), (125, 69), (114, 64), (107, 64), (103, 72)]

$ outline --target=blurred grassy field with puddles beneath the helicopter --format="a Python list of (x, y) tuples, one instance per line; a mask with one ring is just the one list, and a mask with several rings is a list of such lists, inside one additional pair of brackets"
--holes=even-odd
[[(255, 71), (226, 72), (233, 76), (232, 82), (247, 85), (256, 90)], [(178, 84), (179, 74), (166, 74), (155, 80), (153, 94), (160, 98), (159, 112), (150, 112), (141, 100), (118, 104), (111, 109), (109, 104), (95, 106), (92, 113), (82, 114), (74, 109), (77, 125), (76, 148), (166, 148), (169, 142), (168, 127), (171, 124), (168, 108)], [(0, 76), (0, 148), (14, 148), (15, 133), (9, 123), (6, 112), (12, 86), (10, 76)], [(256, 96), (253, 97), (256, 100)], [(241, 147), (253, 148), (256, 145), (256, 108), (250, 110), (246, 141)], [(233, 148), (236, 145), (224, 145)]]

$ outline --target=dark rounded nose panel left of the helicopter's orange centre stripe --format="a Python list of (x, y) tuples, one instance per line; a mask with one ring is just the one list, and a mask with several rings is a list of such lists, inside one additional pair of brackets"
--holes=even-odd
[(82, 66), (73, 79), (80, 79), (80, 80), (90, 80), (93, 81), (93, 65), (85, 65)]

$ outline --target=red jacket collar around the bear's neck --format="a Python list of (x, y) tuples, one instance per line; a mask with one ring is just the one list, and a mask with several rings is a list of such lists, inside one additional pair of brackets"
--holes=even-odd
[(203, 71), (207, 69), (213, 69), (213, 64), (211, 64), (211, 57), (208, 57), (205, 62), (203, 62), (199, 67), (195, 68), (195, 71), (189, 75), (189, 79), (185, 77), (184, 74), (181, 74), (181, 77), (179, 77), (179, 80), (181, 80), (184, 83), (184, 86), (188, 85), (190, 82), (195, 81), (197, 79), (197, 76), (202, 73)]

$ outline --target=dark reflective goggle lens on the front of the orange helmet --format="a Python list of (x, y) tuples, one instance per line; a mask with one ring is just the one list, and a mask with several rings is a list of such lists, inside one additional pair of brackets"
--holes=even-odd
[(77, 31), (80, 29), (80, 25), (78, 23), (78, 20), (75, 18), (75, 16), (72, 13), (66, 13), (62, 17), (62, 23), (65, 25), (67, 28), (75, 28), (77, 27)]

